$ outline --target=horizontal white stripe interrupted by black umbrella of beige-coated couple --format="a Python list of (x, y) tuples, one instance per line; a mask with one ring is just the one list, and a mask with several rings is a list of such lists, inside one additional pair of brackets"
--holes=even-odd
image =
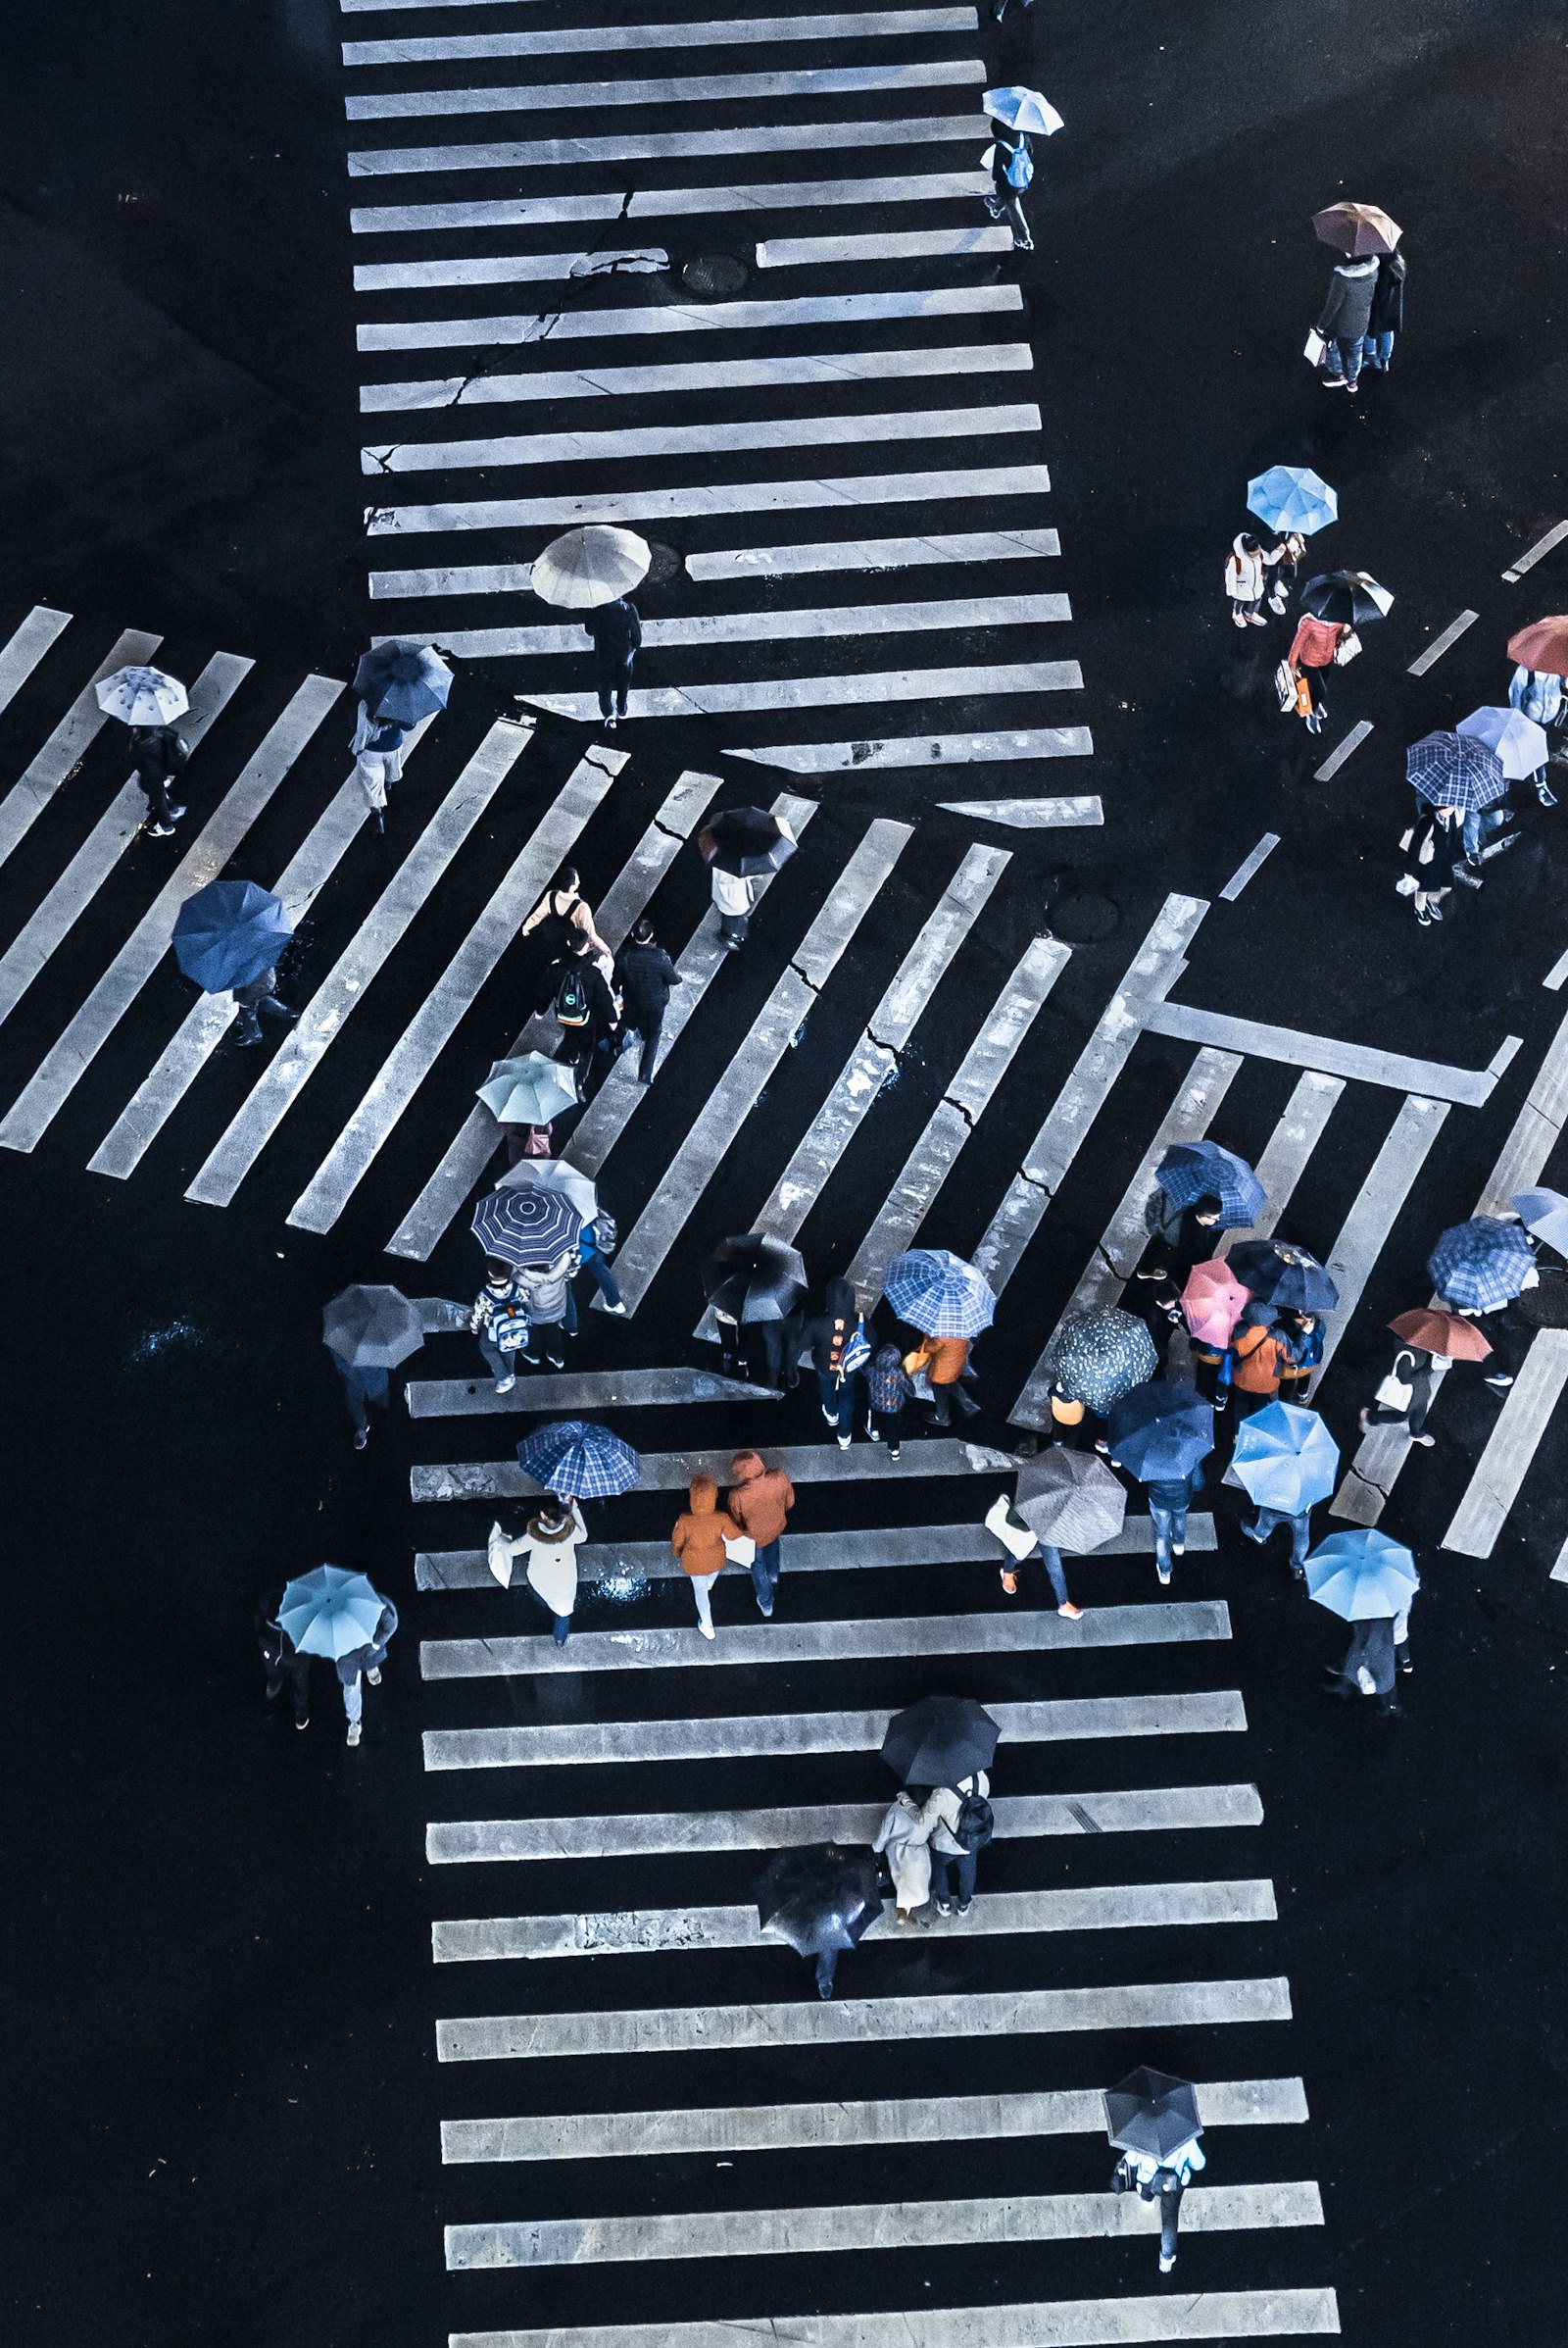
[[(1084, 1618), (1087, 1620), (1087, 1618)], [(1246, 1728), (1232, 1688), (1202, 1695), (1077, 1695), (988, 1705), (1002, 1738), (1056, 1745), (1110, 1738), (1218, 1738)], [(887, 1735), (887, 1712), (791, 1712), (683, 1721), (552, 1721), (545, 1728), (427, 1728), (425, 1768), (587, 1768), (620, 1761), (735, 1761), (765, 1754), (861, 1754)]]

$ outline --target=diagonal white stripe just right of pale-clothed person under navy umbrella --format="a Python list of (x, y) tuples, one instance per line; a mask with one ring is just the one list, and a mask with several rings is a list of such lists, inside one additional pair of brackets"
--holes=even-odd
[(277, 1054), (268, 1061), (235, 1111), (204, 1165), (185, 1188), (185, 1197), (204, 1207), (228, 1207), (263, 1148), (284, 1122), (303, 1087), (319, 1068), (326, 1050), (343, 1033), (350, 1012), (364, 1003), (364, 991), (401, 942), (408, 923), (430, 899), (448, 864), (486, 812), (519, 756), (533, 740), (533, 726), (500, 718), (458, 775), (455, 784), (430, 817), (418, 841), (385, 885), (369, 918), (347, 942), (333, 967), (303, 1007)]

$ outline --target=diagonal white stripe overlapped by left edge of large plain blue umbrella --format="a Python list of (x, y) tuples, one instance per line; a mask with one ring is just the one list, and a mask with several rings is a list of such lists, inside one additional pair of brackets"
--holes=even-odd
[(99, 984), (14, 1099), (0, 1125), (0, 1146), (9, 1151), (38, 1148), (52, 1118), (70, 1099), (94, 1057), (167, 956), (174, 920), (185, 897), (218, 878), (343, 690), (345, 686), (333, 676), (307, 676), (296, 690), (261, 749), (218, 801)]

